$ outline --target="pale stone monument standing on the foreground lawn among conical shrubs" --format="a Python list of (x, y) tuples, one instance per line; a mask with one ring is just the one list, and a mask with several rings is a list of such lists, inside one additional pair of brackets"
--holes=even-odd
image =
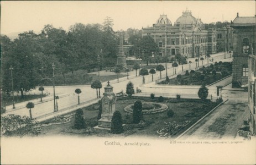
[(109, 81), (107, 86), (104, 87), (105, 92), (103, 97), (101, 98), (102, 103), (102, 113), (101, 119), (98, 120), (98, 128), (111, 128), (111, 120), (114, 111), (116, 111), (116, 95), (114, 95), (113, 87), (109, 85)]

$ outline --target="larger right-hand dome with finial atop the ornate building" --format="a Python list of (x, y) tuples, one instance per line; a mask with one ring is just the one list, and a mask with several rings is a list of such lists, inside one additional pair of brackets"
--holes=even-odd
[(190, 10), (186, 10), (185, 12), (182, 12), (181, 17), (179, 17), (175, 25), (195, 25), (196, 24), (196, 18), (192, 16)]

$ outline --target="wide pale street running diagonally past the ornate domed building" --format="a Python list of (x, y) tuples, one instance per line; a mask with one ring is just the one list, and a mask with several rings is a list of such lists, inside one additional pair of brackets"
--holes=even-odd
[[(214, 58), (214, 61), (212, 63), (215, 63), (216, 61), (231, 61), (232, 58), (228, 58), (227, 59), (223, 59), (223, 53), (218, 53), (218, 54), (213, 54), (211, 56), (211, 58)], [(196, 68), (196, 63), (195, 63), (195, 59), (196, 58), (189, 58), (188, 61), (191, 61), (191, 69), (195, 69)], [(209, 62), (210, 63), (210, 62)], [(202, 65), (201, 61), (200, 61), (200, 66)], [(203, 61), (203, 65), (207, 64), (207, 60)], [(163, 64), (164, 65), (164, 64)], [(183, 65), (184, 67), (184, 71), (189, 69), (189, 64)], [(171, 64), (168, 64), (168, 76), (174, 75), (173, 74), (173, 67), (171, 67)], [(176, 68), (176, 73), (181, 73), (182, 72), (182, 66), (179, 65), (179, 67)], [(102, 70), (100, 74), (104, 74), (106, 73), (105, 70)], [(97, 72), (95, 73), (97, 74)], [(163, 72), (161, 72), (162, 77), (165, 77), (166, 75), (166, 71), (164, 70)], [(156, 74), (154, 75), (154, 80), (159, 79), (160, 78), (160, 72), (156, 72)], [(119, 78), (119, 83), (117, 82), (117, 79), (115, 80), (111, 80), (110, 84), (114, 87), (113, 91), (115, 93), (117, 92), (121, 92), (122, 90), (125, 92), (126, 91), (126, 85), (129, 81), (132, 81), (132, 83), (134, 84), (134, 89), (136, 89), (136, 87), (140, 87), (142, 85), (142, 76), (135, 76), (135, 70), (133, 70), (133, 72), (129, 73), (129, 80), (127, 80), (127, 77), (123, 77), (123, 78)], [(145, 84), (151, 83), (151, 74), (145, 76)], [(102, 86), (106, 86), (107, 82), (103, 82)], [(87, 102), (90, 100), (95, 100), (96, 98), (96, 90), (91, 89), (90, 85), (77, 85), (77, 86), (55, 86), (55, 95), (63, 95), (63, 97), (60, 97), (60, 99), (58, 100), (58, 107), (59, 107), (59, 111), (61, 111), (61, 109), (64, 108), (69, 108), (72, 106), (76, 106), (77, 105), (77, 94), (75, 94), (75, 89), (81, 89), (82, 93), (80, 94), (80, 103), (83, 102)], [(210, 89), (211, 90), (211, 89)], [(52, 113), (54, 112), (54, 101), (53, 101), (53, 87), (49, 86), (49, 87), (45, 87), (45, 91), (49, 92), (50, 95), (52, 97), (52, 100), (50, 101), (46, 101), (40, 104), (35, 105), (35, 107), (32, 109), (32, 115), (34, 118), (40, 117), (40, 116), (44, 116), (45, 114), (48, 113)], [(37, 93), (38, 89), (32, 90), (30, 93)], [(104, 89), (101, 89), (101, 96), (104, 92)], [(143, 91), (145, 92), (145, 91)], [(148, 92), (148, 91), (147, 91)], [(214, 91), (213, 91), (214, 92)], [(216, 91), (215, 91), (216, 92)], [(44, 101), (45, 98), (43, 98)], [(16, 107), (22, 107), (24, 106), (24, 103), (18, 103), (15, 106)], [(17, 110), (13, 110), (12, 106), (7, 106), (7, 113), (5, 113), (4, 115), (7, 114), (19, 114), (20, 116), (29, 116), (29, 111), (27, 108), (20, 108)]]

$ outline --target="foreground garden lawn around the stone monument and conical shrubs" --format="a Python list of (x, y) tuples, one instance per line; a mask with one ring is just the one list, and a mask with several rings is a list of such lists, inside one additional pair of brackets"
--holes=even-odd
[[(160, 134), (157, 131), (170, 128), (170, 124), (182, 125), (186, 124), (185, 127), (179, 127), (175, 131), (170, 131), (165, 129), (165, 132), (175, 137), (182, 133), (182, 131), (189, 128), (194, 124), (198, 119), (200, 119), (207, 112), (211, 111), (217, 103), (213, 102), (202, 102), (201, 100), (189, 100), (189, 99), (166, 99), (164, 103), (170, 109), (174, 111), (173, 117), (167, 116), (167, 111), (153, 113), (153, 114), (143, 114), (143, 124), (132, 124), (132, 114), (124, 111), (124, 108), (128, 105), (133, 104), (135, 101), (140, 100), (142, 102), (158, 102), (157, 99), (151, 100), (151, 98), (129, 98), (125, 100), (117, 100), (116, 109), (121, 112), (124, 125), (124, 133), (122, 134), (111, 134), (109, 130), (94, 129), (97, 125), (97, 115), (98, 110), (92, 110), (91, 108), (83, 108), (84, 118), (87, 127), (90, 127), (90, 135), (88, 134), (87, 129), (82, 130), (73, 130), (71, 129), (74, 124), (74, 115), (73, 118), (70, 118), (69, 123), (59, 124), (59, 125), (50, 125), (48, 127), (42, 127), (43, 136), (45, 135), (75, 135), (75, 136), (102, 136), (102, 137), (126, 137), (126, 136), (151, 136), (158, 138)], [(48, 121), (49, 123), (49, 121)], [(169, 130), (169, 131), (168, 131)]]

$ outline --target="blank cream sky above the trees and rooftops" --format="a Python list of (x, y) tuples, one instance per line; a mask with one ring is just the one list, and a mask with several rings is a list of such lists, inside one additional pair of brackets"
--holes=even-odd
[(102, 24), (107, 16), (114, 31), (142, 29), (160, 14), (174, 24), (186, 8), (203, 23), (255, 15), (255, 1), (1, 1), (1, 34), (40, 32), (46, 24), (67, 31), (75, 23)]

